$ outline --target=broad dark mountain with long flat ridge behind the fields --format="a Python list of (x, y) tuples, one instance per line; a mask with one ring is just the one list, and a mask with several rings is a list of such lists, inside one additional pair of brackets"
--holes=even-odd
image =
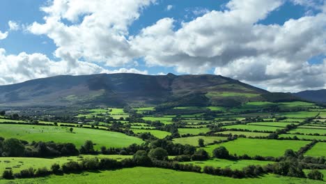
[(220, 75), (62, 75), (0, 86), (0, 107), (236, 106), (248, 101), (293, 99), (292, 95), (270, 93)]

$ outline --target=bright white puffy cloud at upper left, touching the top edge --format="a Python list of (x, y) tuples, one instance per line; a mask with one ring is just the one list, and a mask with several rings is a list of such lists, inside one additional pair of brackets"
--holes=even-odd
[[(43, 7), (45, 23), (34, 22), (31, 33), (45, 34), (58, 47), (55, 55), (107, 66), (125, 66), (137, 55), (130, 49), (128, 26), (155, 0), (54, 0)], [(70, 24), (63, 23), (67, 20)]]

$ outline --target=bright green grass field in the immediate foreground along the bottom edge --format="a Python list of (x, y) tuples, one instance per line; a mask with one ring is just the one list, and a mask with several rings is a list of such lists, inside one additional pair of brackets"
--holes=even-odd
[(57, 183), (111, 183), (111, 184), (166, 184), (166, 183), (226, 183), (226, 184), (325, 184), (323, 181), (313, 181), (305, 178), (290, 178), (269, 174), (260, 178), (235, 179), (208, 174), (197, 174), (192, 172), (173, 171), (170, 169), (159, 169), (149, 167), (135, 167), (129, 169), (118, 169), (115, 171), (94, 171), (83, 174), (66, 174), (64, 176), (49, 176), (45, 178), (15, 179), (15, 181), (2, 180), (5, 183), (33, 183), (33, 184), (57, 184)]

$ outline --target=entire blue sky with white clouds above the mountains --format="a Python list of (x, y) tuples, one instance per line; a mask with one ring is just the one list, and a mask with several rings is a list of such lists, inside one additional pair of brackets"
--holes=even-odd
[(0, 85), (115, 72), (326, 89), (326, 0), (0, 1)]

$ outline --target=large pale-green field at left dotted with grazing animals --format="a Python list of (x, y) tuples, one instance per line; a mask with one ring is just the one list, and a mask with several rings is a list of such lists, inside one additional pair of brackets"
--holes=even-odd
[(93, 141), (95, 148), (100, 146), (123, 147), (130, 144), (141, 144), (137, 137), (127, 136), (119, 132), (94, 130), (88, 128), (69, 128), (43, 125), (6, 125), (0, 124), (0, 137), (24, 139), (26, 141), (54, 141), (58, 143), (73, 143), (78, 148), (86, 140)]

